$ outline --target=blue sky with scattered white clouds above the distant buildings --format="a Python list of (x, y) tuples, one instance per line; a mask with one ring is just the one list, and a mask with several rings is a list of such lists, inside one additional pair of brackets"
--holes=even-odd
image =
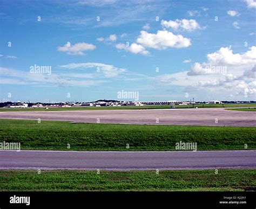
[(0, 100), (256, 100), (255, 20), (255, 0), (0, 0)]

